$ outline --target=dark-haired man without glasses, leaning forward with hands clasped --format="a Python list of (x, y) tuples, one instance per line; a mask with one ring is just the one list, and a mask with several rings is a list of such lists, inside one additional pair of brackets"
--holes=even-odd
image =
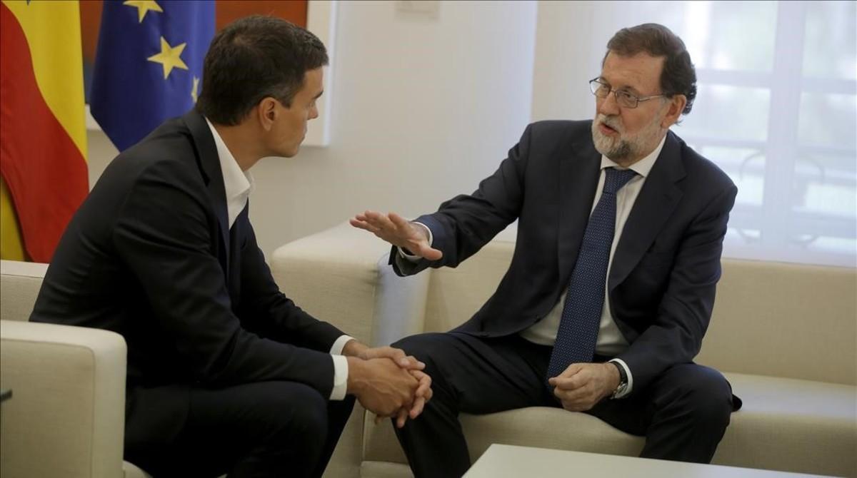
[(225, 27), (195, 111), (112, 161), (45, 275), (31, 320), (125, 338), (125, 457), (155, 476), (320, 476), (354, 397), (399, 426), (431, 397), (422, 363), (287, 299), (249, 222), (248, 170), (297, 154), (326, 64), (287, 21)]

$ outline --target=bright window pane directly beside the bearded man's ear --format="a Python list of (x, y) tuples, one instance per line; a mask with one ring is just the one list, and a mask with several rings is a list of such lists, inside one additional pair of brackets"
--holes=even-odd
[(769, 107), (766, 88), (699, 85), (693, 111), (674, 131), (694, 138), (764, 141)]

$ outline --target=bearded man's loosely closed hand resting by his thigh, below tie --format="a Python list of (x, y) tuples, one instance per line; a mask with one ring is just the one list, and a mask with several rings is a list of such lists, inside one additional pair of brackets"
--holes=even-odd
[(562, 408), (591, 409), (619, 386), (619, 370), (612, 363), (572, 363), (563, 373), (548, 379)]

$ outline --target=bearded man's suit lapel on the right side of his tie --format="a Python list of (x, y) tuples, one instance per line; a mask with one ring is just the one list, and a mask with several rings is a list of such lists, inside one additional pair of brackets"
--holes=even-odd
[(621, 284), (679, 204), (683, 193), (676, 185), (685, 176), (679, 141), (669, 132), (654, 167), (637, 196), (622, 230), (608, 279), (609, 290)]

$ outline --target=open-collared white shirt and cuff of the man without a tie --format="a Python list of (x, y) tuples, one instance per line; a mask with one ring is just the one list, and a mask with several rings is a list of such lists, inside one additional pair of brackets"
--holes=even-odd
[[(229, 228), (232, 229), (232, 224), (235, 224), (235, 219), (238, 214), (247, 206), (250, 193), (255, 189), (253, 176), (249, 171), (241, 170), (238, 166), (232, 152), (226, 147), (223, 138), (214, 128), (212, 122), (208, 121), (208, 128), (211, 129), (214, 137), (214, 145), (217, 146), (217, 154), (220, 160), (220, 171), (223, 173), (223, 187), (226, 192), (226, 209), (229, 216)], [(330, 354), (333, 358), (333, 390), (330, 393), (331, 400), (342, 400), (345, 398), (345, 391), (348, 385), (348, 360), (342, 356), (342, 349), (345, 344), (352, 338), (348, 335), (343, 335), (336, 339), (333, 347), (330, 348)]]

